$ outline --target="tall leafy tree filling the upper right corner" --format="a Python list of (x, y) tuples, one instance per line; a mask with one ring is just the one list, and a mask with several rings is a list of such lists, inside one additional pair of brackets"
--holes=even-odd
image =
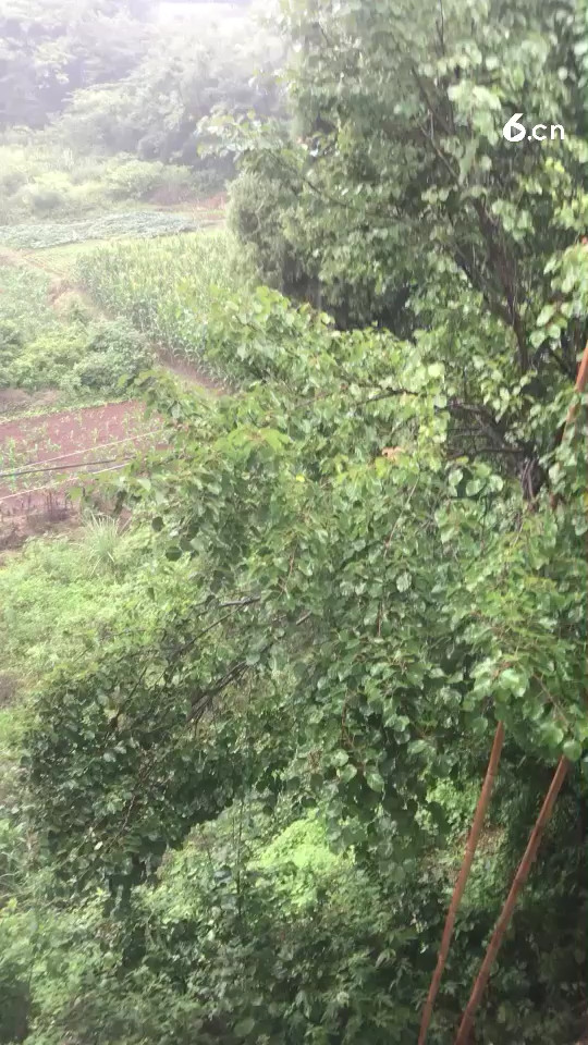
[[(291, 4), (295, 132), (216, 125), (241, 156), (234, 226), (260, 271), (342, 327), (434, 342), (456, 431), (493, 446), (529, 495), (553, 437), (538, 406), (571, 389), (588, 332), (576, 17), (574, 4)], [(522, 111), (564, 139), (505, 140)]]

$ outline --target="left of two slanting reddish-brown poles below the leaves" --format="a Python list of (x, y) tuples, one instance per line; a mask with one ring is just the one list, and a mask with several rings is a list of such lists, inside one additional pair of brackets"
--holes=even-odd
[(480, 833), (483, 826), (483, 821), (486, 819), (486, 812), (488, 810), (488, 804), (490, 802), (490, 796), (492, 794), (492, 786), (497, 776), (497, 770), (500, 762), (500, 755), (502, 752), (502, 745), (504, 742), (504, 726), (502, 722), (499, 722), (497, 726), (497, 732), (494, 734), (494, 741), (492, 743), (492, 751), (490, 753), (490, 761), (488, 762), (488, 769), (486, 771), (486, 777), (482, 784), (482, 789), (480, 791), (480, 797), (478, 799), (478, 804), (476, 807), (476, 812), (474, 815), (474, 821), (471, 823), (471, 828), (468, 835), (466, 850), (464, 855), (464, 860), (455, 887), (453, 889), (453, 896), (451, 898), (451, 903), (448, 911), (448, 917), (445, 919), (445, 927), (443, 929), (443, 936), (441, 939), (441, 946), (439, 948), (439, 957), (437, 959), (437, 967), (431, 980), (431, 985), (429, 987), (429, 994), (427, 996), (427, 1003), (422, 1010), (422, 1020), (420, 1022), (420, 1033), (418, 1035), (418, 1045), (425, 1045), (427, 1038), (427, 1032), (429, 1030), (429, 1023), (431, 1022), (431, 1016), (434, 1005), (434, 999), (437, 997), (439, 985), (441, 983), (441, 976), (443, 975), (443, 970), (445, 968), (445, 962), (448, 960), (449, 948), (451, 944), (451, 937), (453, 935), (453, 926), (455, 924), (455, 915), (462, 897), (465, 892), (467, 878), (469, 876), (469, 871), (476, 852), (476, 847), (480, 837)]

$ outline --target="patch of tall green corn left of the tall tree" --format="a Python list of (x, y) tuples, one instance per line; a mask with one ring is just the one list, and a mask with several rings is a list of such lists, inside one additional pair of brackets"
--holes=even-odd
[(108, 312), (174, 356), (201, 361), (211, 305), (236, 288), (231, 257), (229, 233), (195, 233), (101, 247), (76, 271)]

